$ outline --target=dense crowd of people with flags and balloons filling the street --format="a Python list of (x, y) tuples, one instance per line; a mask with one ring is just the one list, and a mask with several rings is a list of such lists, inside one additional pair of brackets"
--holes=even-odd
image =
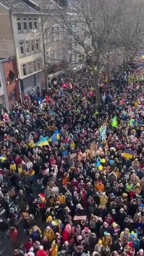
[(83, 70), (41, 105), (26, 95), (1, 110), (0, 231), (13, 255), (144, 256), (144, 68), (118, 75), (107, 85), (101, 71), (99, 105)]

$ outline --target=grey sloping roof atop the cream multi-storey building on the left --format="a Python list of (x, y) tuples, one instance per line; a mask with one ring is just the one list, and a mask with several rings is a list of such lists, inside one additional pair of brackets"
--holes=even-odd
[(39, 5), (32, 0), (0, 0), (0, 4), (13, 13), (40, 13)]

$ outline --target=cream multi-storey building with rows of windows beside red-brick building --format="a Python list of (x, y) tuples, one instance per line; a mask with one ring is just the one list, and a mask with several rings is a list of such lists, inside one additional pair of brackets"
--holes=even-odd
[[(30, 0), (0, 0), (0, 57), (15, 55), (22, 97), (41, 92), (44, 78), (40, 8)], [(6, 54), (7, 53), (7, 54)]]

